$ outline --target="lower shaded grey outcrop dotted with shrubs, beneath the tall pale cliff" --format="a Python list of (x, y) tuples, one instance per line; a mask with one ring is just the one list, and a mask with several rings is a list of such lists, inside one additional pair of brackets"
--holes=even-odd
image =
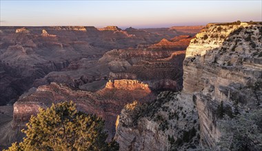
[(164, 92), (149, 104), (125, 106), (114, 139), (119, 150), (190, 150), (199, 148), (197, 113), (188, 96)]

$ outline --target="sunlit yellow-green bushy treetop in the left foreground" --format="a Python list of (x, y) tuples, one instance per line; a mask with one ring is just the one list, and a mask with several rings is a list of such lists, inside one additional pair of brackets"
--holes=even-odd
[(105, 142), (101, 117), (77, 111), (72, 101), (39, 111), (26, 124), (28, 129), (22, 130), (26, 133), (23, 141), (8, 150), (118, 150), (115, 141)]

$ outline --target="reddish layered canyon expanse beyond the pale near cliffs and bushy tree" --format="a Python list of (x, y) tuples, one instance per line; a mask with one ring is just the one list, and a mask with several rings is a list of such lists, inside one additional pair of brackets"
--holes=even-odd
[(21, 141), (20, 130), (39, 107), (73, 100), (80, 111), (105, 119), (109, 140), (123, 106), (180, 91), (185, 49), (196, 32), (150, 31), (1, 27), (0, 102), (13, 106), (1, 115), (1, 148)]

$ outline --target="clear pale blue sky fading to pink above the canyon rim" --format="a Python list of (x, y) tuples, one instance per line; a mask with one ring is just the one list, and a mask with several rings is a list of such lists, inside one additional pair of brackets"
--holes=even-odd
[(1, 25), (170, 27), (261, 21), (260, 1), (1, 1)]

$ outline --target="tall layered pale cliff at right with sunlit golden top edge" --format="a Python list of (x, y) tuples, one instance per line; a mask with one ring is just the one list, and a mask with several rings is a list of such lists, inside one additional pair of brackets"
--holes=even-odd
[(186, 50), (183, 91), (195, 93), (203, 146), (223, 135), (216, 127), (221, 102), (229, 116), (261, 108), (261, 27), (210, 24)]

